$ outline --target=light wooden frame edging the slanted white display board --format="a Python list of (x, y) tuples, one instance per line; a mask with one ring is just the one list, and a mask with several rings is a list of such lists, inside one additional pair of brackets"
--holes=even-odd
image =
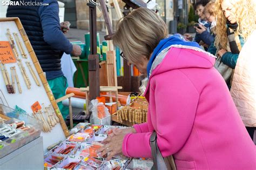
[(68, 137), (70, 135), (68, 127), (66, 126), (65, 121), (64, 121), (64, 119), (62, 117), (62, 114), (60, 113), (59, 107), (58, 107), (58, 105), (56, 103), (55, 98), (53, 97), (53, 94), (51, 92), (51, 89), (50, 89), (50, 86), (48, 84), (48, 81), (46, 80), (46, 78), (44, 76), (43, 70), (42, 70), (42, 68), (41, 68), (41, 66), (40, 66), (40, 64), (38, 62), (37, 57), (36, 57), (36, 53), (35, 53), (35, 51), (33, 51), (32, 45), (29, 42), (29, 38), (26, 35), (26, 32), (25, 32), (25, 30), (24, 30), (24, 28), (22, 26), (21, 21), (17, 17), (0, 18), (0, 22), (11, 22), (11, 21), (14, 21), (16, 23), (16, 25), (17, 25), (19, 33), (21, 34), (21, 37), (22, 37), (21, 41), (23, 40), (23, 42), (25, 44), (25, 47), (26, 47), (26, 49), (28, 50), (28, 52), (30, 54), (32, 63), (35, 66), (36, 72), (38, 73), (39, 78), (42, 81), (42, 84), (44, 86), (45, 92), (47, 93), (47, 95), (49, 97), (49, 100), (50, 100), (50, 103), (52, 104), (53, 109), (55, 110), (55, 113), (56, 113), (57, 117), (59, 118), (60, 126), (62, 127), (62, 130), (63, 130), (65, 136)]

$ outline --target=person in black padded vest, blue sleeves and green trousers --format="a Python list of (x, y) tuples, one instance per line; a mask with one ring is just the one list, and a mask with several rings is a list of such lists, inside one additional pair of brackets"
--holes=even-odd
[[(30, 2), (31, 0), (24, 0)], [(63, 76), (60, 58), (63, 53), (79, 56), (80, 46), (72, 45), (64, 36), (59, 23), (59, 6), (57, 0), (33, 0), (40, 5), (9, 5), (6, 17), (18, 17), (29, 37), (37, 59), (46, 74), (53, 96), (58, 99), (65, 96), (68, 87)], [(14, 3), (17, 4), (17, 3)], [(47, 4), (47, 5), (43, 5)], [(65, 118), (69, 108), (58, 103)]]

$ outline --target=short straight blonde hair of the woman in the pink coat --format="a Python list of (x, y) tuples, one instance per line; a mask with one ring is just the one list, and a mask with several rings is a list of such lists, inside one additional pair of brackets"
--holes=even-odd
[(140, 58), (150, 58), (161, 39), (168, 36), (163, 19), (150, 9), (139, 8), (121, 18), (113, 36), (113, 44), (122, 49), (131, 63), (141, 63)]

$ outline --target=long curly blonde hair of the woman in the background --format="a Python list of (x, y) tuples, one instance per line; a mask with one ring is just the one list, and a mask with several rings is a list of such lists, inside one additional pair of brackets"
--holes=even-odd
[[(218, 50), (227, 50), (227, 19), (221, 9), (221, 3), (224, 0), (217, 0), (215, 2), (215, 17), (217, 19), (216, 24), (216, 37), (214, 45)], [(251, 0), (237, 0), (234, 3), (235, 16), (238, 23), (238, 33), (246, 41), (248, 36), (251, 35), (252, 31), (255, 29), (255, 11), (253, 9)]]

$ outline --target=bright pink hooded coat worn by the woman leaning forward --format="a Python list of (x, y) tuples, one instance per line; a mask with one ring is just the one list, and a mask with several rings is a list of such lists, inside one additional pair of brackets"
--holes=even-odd
[(206, 53), (171, 47), (147, 85), (147, 123), (124, 138), (127, 157), (151, 157), (156, 130), (161, 154), (173, 154), (178, 170), (256, 169), (256, 147), (214, 62)]

